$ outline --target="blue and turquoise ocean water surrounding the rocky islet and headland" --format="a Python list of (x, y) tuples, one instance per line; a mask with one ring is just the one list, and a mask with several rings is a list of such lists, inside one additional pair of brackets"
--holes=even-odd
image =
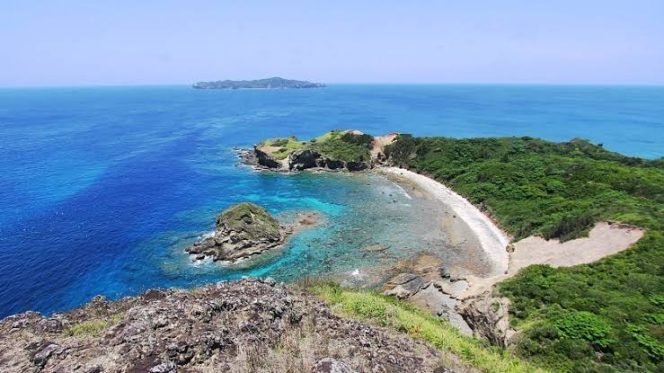
[[(336, 128), (582, 137), (656, 158), (664, 156), (664, 88), (1, 89), (0, 317), (62, 311), (96, 294), (347, 272), (375, 264), (359, 250), (368, 244), (389, 246), (392, 259), (434, 244), (413, 223), (417, 202), (385, 179), (236, 164), (234, 147)], [(283, 220), (316, 210), (324, 222), (252, 268), (192, 264), (183, 248), (213, 229), (221, 209), (244, 200)]]

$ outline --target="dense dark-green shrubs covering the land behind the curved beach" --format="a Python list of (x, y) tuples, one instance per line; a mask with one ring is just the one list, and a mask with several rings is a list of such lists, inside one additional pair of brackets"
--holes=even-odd
[(584, 140), (414, 138), (387, 147), (495, 217), (516, 239), (568, 240), (595, 222), (647, 230), (633, 249), (570, 268), (531, 266), (499, 285), (516, 352), (561, 371), (664, 371), (664, 160)]

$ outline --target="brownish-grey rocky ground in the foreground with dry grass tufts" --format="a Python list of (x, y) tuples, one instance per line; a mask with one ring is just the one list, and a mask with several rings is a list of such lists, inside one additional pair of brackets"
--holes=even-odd
[(96, 298), (0, 322), (2, 372), (448, 372), (439, 353), (269, 280)]

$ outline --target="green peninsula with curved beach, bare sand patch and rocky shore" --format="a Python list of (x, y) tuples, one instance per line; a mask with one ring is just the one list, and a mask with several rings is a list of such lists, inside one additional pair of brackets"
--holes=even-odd
[[(435, 273), (429, 257), (415, 258), (386, 294), (452, 322), (454, 312), (462, 331), (554, 370), (652, 371), (664, 358), (664, 159), (582, 139), (354, 130), (266, 140), (253, 156), (271, 170), (373, 169), (401, 178), (451, 206), (492, 260), (493, 275), (477, 278)], [(363, 167), (348, 167), (358, 161)]]

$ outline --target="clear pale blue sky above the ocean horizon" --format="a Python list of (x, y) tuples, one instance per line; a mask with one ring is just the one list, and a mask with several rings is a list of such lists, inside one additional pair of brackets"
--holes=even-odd
[(664, 84), (664, 0), (0, 0), (0, 86)]

